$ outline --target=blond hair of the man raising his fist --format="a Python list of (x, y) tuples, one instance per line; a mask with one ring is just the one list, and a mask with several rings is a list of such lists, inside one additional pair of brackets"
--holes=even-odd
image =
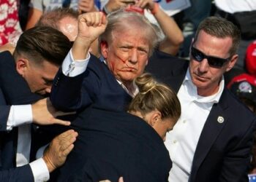
[(125, 33), (125, 31), (131, 29), (135, 31), (135, 35), (138, 34), (138, 31), (143, 32), (143, 38), (148, 40), (149, 55), (151, 55), (159, 41), (159, 31), (156, 30), (154, 25), (145, 16), (140, 15), (138, 12), (127, 12), (124, 9), (119, 9), (116, 12), (110, 13), (105, 32), (99, 36), (99, 43), (106, 41), (108, 44), (111, 44), (113, 39), (121, 38), (115, 37), (117, 33)]

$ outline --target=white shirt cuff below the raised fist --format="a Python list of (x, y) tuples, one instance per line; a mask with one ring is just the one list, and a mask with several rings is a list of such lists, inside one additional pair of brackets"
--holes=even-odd
[(61, 66), (63, 74), (71, 77), (82, 74), (84, 71), (86, 71), (90, 58), (91, 55), (88, 53), (85, 60), (74, 60), (72, 51), (69, 50), (69, 53), (67, 54)]

